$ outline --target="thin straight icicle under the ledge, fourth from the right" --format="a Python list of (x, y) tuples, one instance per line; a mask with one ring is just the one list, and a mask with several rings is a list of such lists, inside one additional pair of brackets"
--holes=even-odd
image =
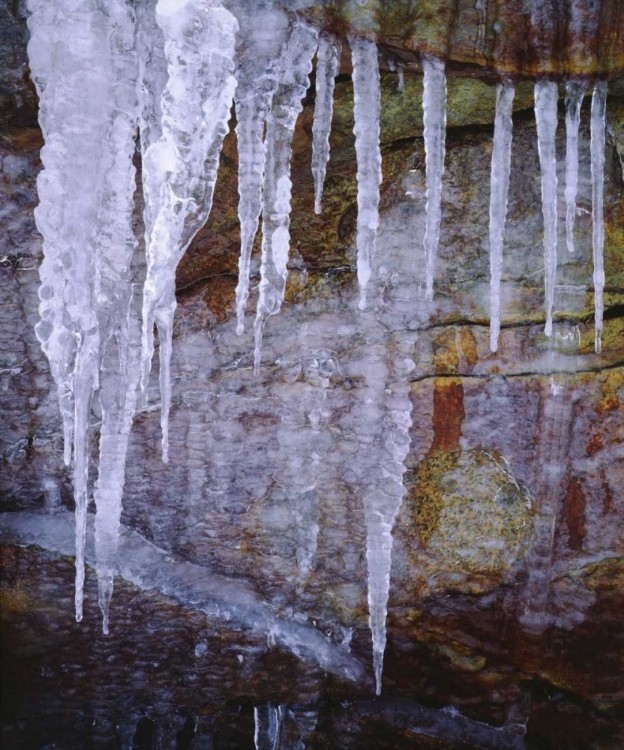
[(496, 87), (496, 116), (492, 148), (492, 176), (490, 182), (490, 350), (498, 349), (500, 332), (500, 282), (503, 271), (503, 240), (509, 170), (511, 167), (512, 112), (515, 86), (512, 83)]

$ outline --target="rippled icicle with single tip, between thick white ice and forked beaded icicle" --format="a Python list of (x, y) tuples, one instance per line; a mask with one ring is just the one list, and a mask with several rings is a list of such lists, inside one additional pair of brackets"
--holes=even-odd
[(289, 31), (288, 17), (276, 8), (259, 8), (251, 15), (243, 14), (241, 23), (240, 57), (236, 69), (238, 86), (234, 95), (241, 227), (236, 286), (236, 333), (239, 336), (245, 327), (251, 251), (262, 212), (264, 124), (279, 84), (279, 62)]

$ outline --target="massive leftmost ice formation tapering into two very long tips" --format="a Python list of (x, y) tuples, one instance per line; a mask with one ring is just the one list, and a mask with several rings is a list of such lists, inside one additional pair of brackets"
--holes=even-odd
[[(56, 380), (65, 461), (74, 460), (76, 619), (82, 619), (89, 417), (100, 364), (114, 338), (120, 377), (103, 384), (101, 471), (96, 484), (100, 601), (105, 628), (133, 399), (129, 369), (131, 227), (136, 130), (136, 59), (128, 6), (88, 13), (64, 0), (31, 0), (29, 56), (46, 145), (37, 226), (44, 237), (37, 336)], [(89, 44), (66, 45), (67, 36)], [(70, 205), (71, 210), (61, 206)]]

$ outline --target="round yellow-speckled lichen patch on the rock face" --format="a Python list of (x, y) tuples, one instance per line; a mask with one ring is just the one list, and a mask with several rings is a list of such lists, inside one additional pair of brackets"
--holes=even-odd
[(435, 451), (410, 493), (429, 589), (483, 591), (513, 575), (526, 553), (531, 498), (505, 460), (485, 450)]

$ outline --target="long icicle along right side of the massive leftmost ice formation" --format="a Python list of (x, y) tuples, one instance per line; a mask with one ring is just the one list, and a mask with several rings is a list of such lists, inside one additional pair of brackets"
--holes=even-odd
[(138, 59), (132, 44), (135, 29), (128, 4), (125, 0), (109, 0), (107, 9), (112, 23), (112, 111), (102, 161), (94, 296), (100, 361), (114, 337), (118, 367), (103, 373), (100, 383), (100, 463), (94, 492), (96, 570), (105, 633), (117, 557), (128, 436), (136, 403), (140, 343), (138, 331), (132, 341), (129, 338), (130, 269), (137, 244), (132, 230), (136, 186), (132, 158), (139, 114)]

